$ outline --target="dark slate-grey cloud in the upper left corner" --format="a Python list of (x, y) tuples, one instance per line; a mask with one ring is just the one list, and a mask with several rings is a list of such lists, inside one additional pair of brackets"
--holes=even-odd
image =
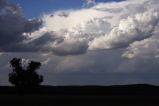
[(20, 7), (7, 0), (0, 1), (0, 23), (0, 50), (2, 52), (12, 51), (12, 47), (16, 51), (25, 39), (22, 34), (37, 30), (41, 25), (40, 20), (26, 19)]

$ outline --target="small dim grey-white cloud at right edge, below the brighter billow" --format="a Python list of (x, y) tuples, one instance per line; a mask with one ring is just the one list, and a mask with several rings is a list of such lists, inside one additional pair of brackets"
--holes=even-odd
[(159, 23), (156, 25), (152, 37), (132, 43), (123, 57), (132, 58), (158, 58), (159, 57)]

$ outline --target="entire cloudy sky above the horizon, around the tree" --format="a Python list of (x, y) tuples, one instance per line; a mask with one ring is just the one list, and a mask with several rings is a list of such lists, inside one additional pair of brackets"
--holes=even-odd
[(9, 61), (44, 85), (159, 85), (158, 0), (1, 0), (0, 85)]

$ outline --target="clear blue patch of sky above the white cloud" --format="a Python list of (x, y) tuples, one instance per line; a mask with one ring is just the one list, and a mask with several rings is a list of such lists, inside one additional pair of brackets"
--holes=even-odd
[[(23, 8), (25, 16), (28, 18), (38, 17), (47, 12), (63, 9), (79, 9), (83, 7), (85, 0), (10, 0), (19, 4)], [(96, 0), (96, 2), (112, 2), (122, 0)]]

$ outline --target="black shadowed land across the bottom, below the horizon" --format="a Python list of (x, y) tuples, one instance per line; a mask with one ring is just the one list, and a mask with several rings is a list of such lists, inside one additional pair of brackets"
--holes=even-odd
[(0, 106), (159, 106), (159, 87), (125, 86), (41, 86), (18, 92), (0, 87)]

